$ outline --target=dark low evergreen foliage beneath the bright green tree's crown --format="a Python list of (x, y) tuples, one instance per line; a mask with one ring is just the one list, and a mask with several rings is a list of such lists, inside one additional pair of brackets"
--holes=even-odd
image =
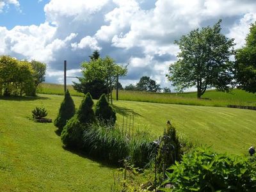
[(104, 81), (95, 79), (92, 81), (85, 81), (84, 78), (79, 78), (80, 83), (73, 82), (74, 90), (80, 93), (90, 93), (93, 99), (99, 99), (103, 93), (108, 93), (108, 87)]

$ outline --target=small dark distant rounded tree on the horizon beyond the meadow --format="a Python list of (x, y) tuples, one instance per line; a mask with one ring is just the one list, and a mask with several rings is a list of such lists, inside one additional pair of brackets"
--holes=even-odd
[(136, 84), (137, 90), (141, 92), (160, 92), (160, 84), (156, 84), (156, 81), (150, 79), (150, 77), (143, 76), (140, 78), (139, 83)]

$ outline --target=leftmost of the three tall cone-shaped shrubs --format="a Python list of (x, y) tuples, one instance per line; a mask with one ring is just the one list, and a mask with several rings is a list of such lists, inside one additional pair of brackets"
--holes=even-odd
[(61, 102), (61, 106), (59, 109), (59, 114), (57, 118), (54, 120), (54, 125), (58, 127), (58, 131), (62, 131), (63, 127), (67, 124), (67, 120), (69, 120), (76, 113), (76, 108), (70, 93), (65, 93), (65, 97), (63, 102)]

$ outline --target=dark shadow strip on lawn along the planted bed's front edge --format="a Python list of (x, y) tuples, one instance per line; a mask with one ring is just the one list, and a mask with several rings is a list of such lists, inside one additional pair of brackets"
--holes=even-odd
[(86, 158), (86, 159), (90, 159), (91, 161), (95, 161), (95, 162), (99, 163), (100, 167), (120, 168), (122, 166), (122, 163), (120, 163), (119, 165), (118, 164), (111, 164), (106, 160), (102, 160), (102, 159), (90, 156), (90, 154), (84, 152), (83, 150), (74, 150), (72, 148), (67, 148), (67, 147), (64, 147), (64, 146), (62, 146), (62, 148), (64, 150), (67, 150), (67, 151), (71, 152), (72, 154), (76, 154), (79, 157), (83, 157), (83, 158)]

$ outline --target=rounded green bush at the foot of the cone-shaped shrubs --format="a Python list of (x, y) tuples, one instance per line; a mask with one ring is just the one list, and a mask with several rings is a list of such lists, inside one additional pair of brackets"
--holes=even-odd
[(61, 132), (61, 141), (67, 148), (82, 148), (83, 147), (83, 131), (85, 127), (78, 120), (77, 115), (72, 116), (68, 120), (67, 125), (63, 127)]

